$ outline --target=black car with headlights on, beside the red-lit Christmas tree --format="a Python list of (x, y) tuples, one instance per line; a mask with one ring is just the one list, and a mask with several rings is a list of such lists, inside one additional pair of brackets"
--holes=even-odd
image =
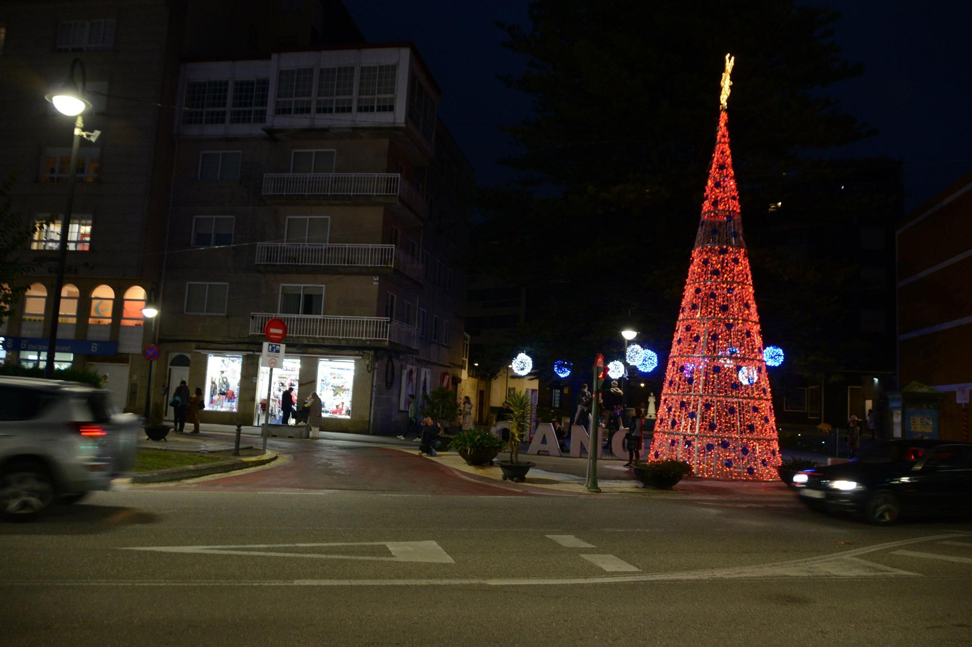
[(800, 499), (817, 509), (859, 514), (872, 524), (902, 515), (972, 512), (972, 444), (894, 440), (859, 460), (793, 477)]

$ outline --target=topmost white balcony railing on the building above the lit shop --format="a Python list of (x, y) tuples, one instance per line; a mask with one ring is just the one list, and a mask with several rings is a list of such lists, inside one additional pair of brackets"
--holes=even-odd
[(423, 218), (429, 212), (429, 203), (399, 173), (264, 173), (263, 195), (397, 196)]

